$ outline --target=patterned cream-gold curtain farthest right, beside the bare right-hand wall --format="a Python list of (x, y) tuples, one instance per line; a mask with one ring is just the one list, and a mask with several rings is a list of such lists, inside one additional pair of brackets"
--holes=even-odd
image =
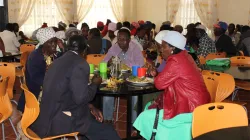
[(217, 0), (194, 0), (195, 9), (203, 25), (212, 30), (219, 21), (217, 15)]

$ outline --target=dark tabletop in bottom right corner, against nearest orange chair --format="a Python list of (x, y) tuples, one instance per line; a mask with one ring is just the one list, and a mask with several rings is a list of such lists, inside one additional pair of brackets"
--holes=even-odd
[(193, 140), (250, 140), (250, 126), (220, 129), (203, 134)]

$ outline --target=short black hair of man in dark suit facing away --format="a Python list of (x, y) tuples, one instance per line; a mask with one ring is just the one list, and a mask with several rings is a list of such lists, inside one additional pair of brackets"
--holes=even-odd
[(67, 50), (75, 51), (82, 54), (88, 48), (86, 39), (81, 35), (74, 35), (67, 42)]

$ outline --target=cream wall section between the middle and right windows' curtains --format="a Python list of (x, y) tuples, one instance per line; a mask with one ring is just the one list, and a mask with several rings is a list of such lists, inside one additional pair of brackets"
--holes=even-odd
[(149, 20), (159, 29), (162, 22), (166, 21), (166, 0), (136, 0), (137, 21)]

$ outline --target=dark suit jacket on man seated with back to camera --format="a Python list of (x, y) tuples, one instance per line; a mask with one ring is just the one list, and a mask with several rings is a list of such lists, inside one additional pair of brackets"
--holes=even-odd
[(55, 60), (45, 75), (40, 114), (31, 129), (42, 138), (75, 131), (84, 134), (91, 118), (88, 103), (97, 89), (88, 83), (89, 65), (79, 55), (68, 51)]

